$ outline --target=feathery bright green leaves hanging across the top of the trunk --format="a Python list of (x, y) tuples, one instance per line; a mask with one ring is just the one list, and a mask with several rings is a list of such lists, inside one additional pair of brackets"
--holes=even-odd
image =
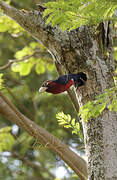
[(44, 17), (49, 15), (46, 23), (51, 23), (53, 27), (59, 25), (63, 31), (109, 19), (117, 21), (116, 15), (113, 16), (116, 0), (59, 0), (45, 5)]

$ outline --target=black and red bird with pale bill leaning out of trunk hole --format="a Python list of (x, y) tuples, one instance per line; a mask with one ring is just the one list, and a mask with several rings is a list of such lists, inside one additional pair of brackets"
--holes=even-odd
[(83, 72), (77, 74), (66, 74), (59, 76), (55, 80), (46, 80), (43, 82), (39, 89), (39, 92), (48, 92), (52, 94), (60, 94), (67, 91), (72, 85), (77, 89), (80, 86), (85, 85), (87, 81), (87, 76)]

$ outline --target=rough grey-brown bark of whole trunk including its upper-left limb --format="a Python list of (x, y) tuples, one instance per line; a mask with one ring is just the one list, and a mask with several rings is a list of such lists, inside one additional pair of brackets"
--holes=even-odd
[[(33, 37), (40, 40), (54, 60), (68, 72), (84, 72), (86, 87), (77, 90), (79, 105), (94, 100), (95, 96), (113, 85), (114, 60), (112, 32), (109, 23), (93, 27), (81, 26), (71, 32), (46, 25), (42, 13), (23, 12), (0, 1), (4, 13), (13, 18)], [(106, 55), (108, 52), (108, 56)], [(87, 123), (82, 119), (89, 180), (117, 179), (117, 114), (106, 108), (98, 117)]]

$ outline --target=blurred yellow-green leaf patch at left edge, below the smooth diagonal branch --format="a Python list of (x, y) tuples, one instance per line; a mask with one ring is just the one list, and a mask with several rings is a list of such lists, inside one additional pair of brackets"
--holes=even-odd
[(10, 133), (11, 129), (11, 127), (0, 129), (0, 152), (5, 150), (10, 151), (13, 144), (15, 143), (15, 139)]

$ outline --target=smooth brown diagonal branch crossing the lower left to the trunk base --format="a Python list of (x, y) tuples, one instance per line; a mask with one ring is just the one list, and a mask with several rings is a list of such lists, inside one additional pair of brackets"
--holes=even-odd
[(81, 180), (87, 179), (86, 162), (55, 136), (47, 132), (45, 129), (37, 126), (34, 122), (21, 114), (1, 92), (0, 113), (11, 122), (17, 124), (21, 129), (27, 131), (47, 148), (58, 154), (60, 158), (74, 170)]

